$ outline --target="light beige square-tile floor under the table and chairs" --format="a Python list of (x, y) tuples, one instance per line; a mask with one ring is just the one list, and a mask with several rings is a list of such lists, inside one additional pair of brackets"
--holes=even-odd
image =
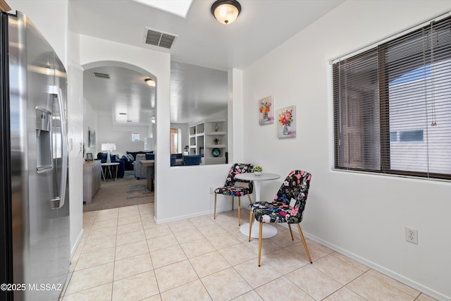
[(307, 239), (310, 264), (279, 225), (259, 267), (236, 214), (156, 225), (154, 204), (85, 212), (62, 300), (433, 300)]

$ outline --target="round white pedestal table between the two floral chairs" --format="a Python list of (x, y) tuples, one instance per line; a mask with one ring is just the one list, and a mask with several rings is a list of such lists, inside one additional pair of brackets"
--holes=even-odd
[[(276, 180), (280, 178), (280, 176), (276, 173), (261, 173), (260, 176), (255, 175), (254, 173), (240, 173), (235, 176), (235, 178), (239, 180), (252, 180), (254, 181), (254, 187), (255, 187), (255, 202), (260, 201), (260, 188), (261, 188), (261, 182), (264, 180)], [(255, 219), (254, 219), (255, 221)], [(240, 226), (240, 232), (244, 235), (249, 235), (249, 223), (243, 223)], [(277, 228), (271, 225), (268, 225), (267, 223), (263, 224), (263, 229), (261, 231), (261, 238), (272, 238), (274, 235), (277, 234)], [(251, 232), (252, 238), (259, 238), (259, 227), (258, 225), (252, 226), (252, 232)]]

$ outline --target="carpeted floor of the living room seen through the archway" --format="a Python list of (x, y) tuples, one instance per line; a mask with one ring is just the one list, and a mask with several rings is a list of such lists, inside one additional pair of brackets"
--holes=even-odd
[[(142, 188), (145, 188), (144, 190)], [(135, 191), (132, 191), (135, 188)], [(129, 192), (129, 193), (128, 193)], [(132, 173), (126, 173), (118, 180), (102, 181), (100, 189), (91, 204), (84, 204), (83, 211), (132, 206), (154, 202), (154, 192), (147, 190), (147, 180), (136, 180)]]

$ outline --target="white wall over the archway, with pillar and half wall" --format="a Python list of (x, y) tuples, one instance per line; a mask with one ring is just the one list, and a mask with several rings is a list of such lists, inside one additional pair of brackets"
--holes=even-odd
[[(80, 36), (80, 63), (82, 66), (101, 61), (117, 61), (139, 66), (156, 76), (156, 151), (155, 219), (157, 222), (183, 219), (213, 211), (213, 195), (209, 186), (224, 182), (230, 166), (171, 167), (170, 156), (170, 75), (169, 54), (131, 47), (129, 45)], [(109, 49), (109, 51), (104, 51)], [(177, 187), (177, 189), (174, 189)], [(220, 204), (225, 207), (226, 204)], [(230, 206), (230, 205), (229, 205)], [(219, 207), (221, 209), (221, 207)]]

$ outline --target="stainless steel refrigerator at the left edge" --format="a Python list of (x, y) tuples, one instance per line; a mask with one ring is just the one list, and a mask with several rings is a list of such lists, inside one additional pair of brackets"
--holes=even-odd
[(58, 300), (70, 263), (66, 70), (19, 12), (0, 13), (0, 56), (0, 300)]

